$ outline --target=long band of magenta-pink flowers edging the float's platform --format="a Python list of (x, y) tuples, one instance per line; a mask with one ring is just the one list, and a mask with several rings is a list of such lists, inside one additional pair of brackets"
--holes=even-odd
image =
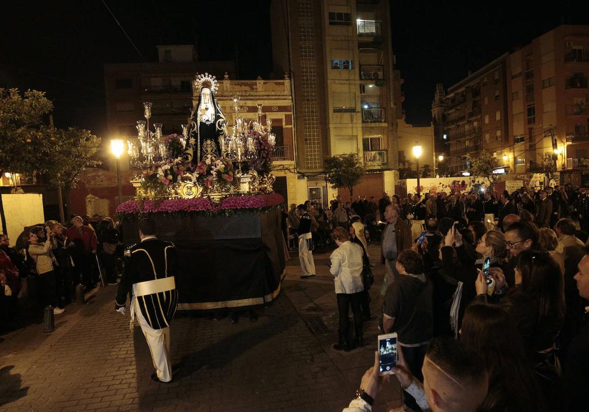
[(164, 201), (128, 200), (117, 208), (117, 217), (126, 214), (145, 214), (158, 212), (227, 212), (229, 210), (265, 211), (280, 207), (284, 203), (282, 195), (270, 193), (264, 195), (228, 196), (216, 203), (209, 198), (173, 199)]

